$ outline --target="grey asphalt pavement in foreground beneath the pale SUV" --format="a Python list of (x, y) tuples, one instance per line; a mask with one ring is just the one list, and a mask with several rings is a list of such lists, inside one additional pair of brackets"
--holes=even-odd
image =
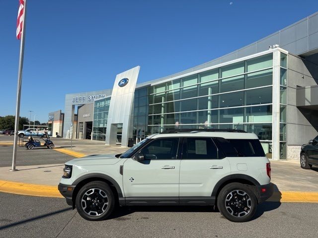
[(212, 207), (118, 208), (110, 219), (89, 222), (63, 198), (0, 193), (0, 238), (316, 238), (317, 203), (261, 204), (254, 219), (232, 223)]

